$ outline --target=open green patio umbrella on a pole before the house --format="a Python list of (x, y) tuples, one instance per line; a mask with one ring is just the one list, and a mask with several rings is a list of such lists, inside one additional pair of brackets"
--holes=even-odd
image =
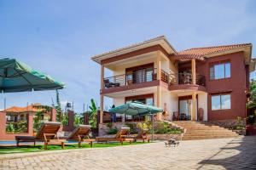
[(138, 102), (131, 102), (125, 105), (119, 105), (115, 108), (108, 110), (111, 113), (119, 113), (119, 114), (126, 114), (131, 116), (145, 116), (151, 115), (152, 116), (152, 139), (154, 135), (154, 114), (162, 112), (163, 110), (158, 107), (154, 107), (152, 105), (143, 105), (142, 103)]

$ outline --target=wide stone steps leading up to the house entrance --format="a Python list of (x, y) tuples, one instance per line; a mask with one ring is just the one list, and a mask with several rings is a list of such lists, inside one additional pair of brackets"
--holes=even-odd
[(195, 121), (174, 121), (172, 122), (179, 127), (186, 129), (183, 140), (193, 139), (221, 139), (221, 138), (234, 138), (238, 136), (237, 133), (219, 127), (207, 122), (195, 122)]

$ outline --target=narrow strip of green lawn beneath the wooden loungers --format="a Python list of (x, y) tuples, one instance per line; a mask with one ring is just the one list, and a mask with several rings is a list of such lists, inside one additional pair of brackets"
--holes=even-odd
[[(147, 144), (143, 142), (133, 142), (131, 144), (124, 142), (123, 145), (134, 145), (134, 144)], [(121, 146), (120, 143), (108, 143), (108, 144), (93, 144), (93, 148), (105, 148), (105, 147), (113, 147), (113, 146)], [(82, 144), (81, 148), (90, 148), (89, 144)], [(73, 149), (81, 149), (78, 147), (78, 144), (67, 144), (65, 145), (64, 150), (73, 150)], [(48, 145), (48, 150), (61, 150), (60, 145)], [(36, 152), (36, 151), (47, 151), (44, 150), (44, 144), (37, 144), (35, 147), (33, 145), (26, 146), (0, 146), (0, 155), (3, 154), (13, 154), (13, 153), (25, 153), (25, 152)]]

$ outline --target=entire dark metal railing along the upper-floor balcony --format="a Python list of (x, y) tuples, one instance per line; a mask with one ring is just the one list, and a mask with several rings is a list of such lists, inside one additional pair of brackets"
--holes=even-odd
[[(170, 85), (179, 84), (192, 84), (191, 73), (177, 73), (169, 74), (166, 71), (161, 70), (161, 81)], [(123, 74), (114, 77), (104, 78), (104, 88), (116, 88), (130, 86), (132, 84), (138, 84), (143, 82), (153, 82), (157, 79), (157, 69), (147, 68), (138, 71), (134, 71), (130, 74)], [(205, 86), (205, 77), (202, 75), (196, 75), (196, 84)]]

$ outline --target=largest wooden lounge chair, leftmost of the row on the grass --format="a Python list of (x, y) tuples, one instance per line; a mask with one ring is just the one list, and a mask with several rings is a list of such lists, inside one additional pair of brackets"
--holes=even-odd
[[(61, 145), (64, 148), (66, 139), (59, 139), (57, 132), (61, 127), (61, 122), (43, 122), (38, 130), (37, 136), (16, 136), (16, 144), (19, 146), (21, 142), (44, 142), (44, 150), (47, 150), (48, 144)], [(55, 139), (56, 137), (56, 139)]]

